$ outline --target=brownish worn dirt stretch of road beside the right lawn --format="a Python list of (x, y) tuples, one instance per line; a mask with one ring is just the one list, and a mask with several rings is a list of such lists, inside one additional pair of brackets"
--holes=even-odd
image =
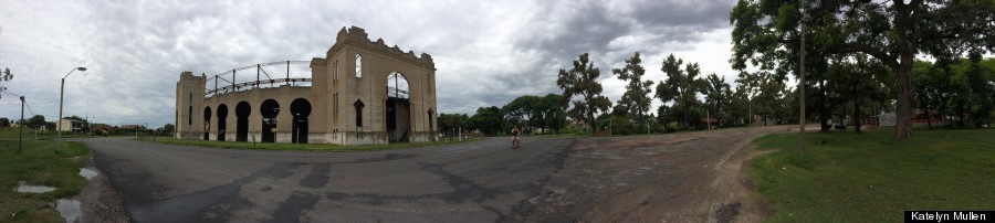
[[(583, 138), (564, 169), (523, 201), (522, 222), (760, 222), (773, 211), (745, 174), (752, 139), (785, 127)], [(562, 191), (566, 191), (563, 193)]]

